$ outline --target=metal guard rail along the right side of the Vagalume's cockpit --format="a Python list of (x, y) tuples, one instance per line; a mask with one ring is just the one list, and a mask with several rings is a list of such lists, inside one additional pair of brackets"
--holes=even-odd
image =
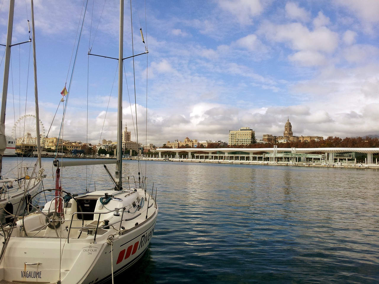
[[(89, 231), (94, 232), (94, 242), (93, 243), (96, 243), (96, 236), (97, 236), (97, 232), (99, 231), (99, 229), (109, 229), (110, 226), (113, 227), (113, 225), (116, 225), (117, 223), (120, 223), (120, 226), (118, 228), (118, 234), (121, 234), (121, 229), (123, 229), (122, 228), (122, 221), (124, 221), (124, 212), (125, 212), (125, 210), (126, 210), (126, 207), (120, 207), (120, 208), (115, 208), (114, 210), (110, 210), (110, 211), (107, 211), (107, 212), (75, 212), (75, 213), (73, 213), (72, 216), (71, 216), (70, 226), (68, 228), (67, 243), (69, 243), (69, 239), (70, 239), (69, 236), (70, 236), (71, 229), (79, 229), (79, 230), (85, 229), (85, 230), (88, 230), (88, 233), (89, 233)], [(118, 220), (116, 220), (113, 223), (109, 223), (109, 221), (105, 219), (105, 220), (102, 220), (102, 222), (104, 222), (104, 224), (102, 226), (99, 226), (99, 224), (100, 224), (100, 217), (102, 215), (114, 212), (114, 214), (113, 214), (114, 216), (119, 216), (120, 215), (119, 211), (121, 211), (121, 218), (120, 219), (117, 218)], [(96, 222), (96, 220), (94, 220), (96, 223), (92, 222), (91, 224), (87, 224), (85, 226), (72, 226), (72, 223), (74, 222), (74, 216), (78, 215), (78, 214), (83, 214), (83, 215), (84, 214), (92, 214), (92, 215), (99, 214), (99, 217), (97, 218), (97, 222)], [(82, 215), (82, 217), (83, 217), (83, 215)], [(127, 218), (127, 219), (125, 219), (125, 221), (133, 220), (133, 219), (137, 218), (139, 215), (141, 215), (141, 213), (133, 216), (132, 218)], [(80, 220), (80, 218), (77, 218), (77, 219)], [(94, 227), (91, 227), (91, 225), (94, 226)]]

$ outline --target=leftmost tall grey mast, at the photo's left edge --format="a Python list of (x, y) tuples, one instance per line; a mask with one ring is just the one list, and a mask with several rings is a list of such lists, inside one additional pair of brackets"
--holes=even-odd
[[(8, 19), (8, 33), (6, 38), (5, 47), (5, 68), (4, 68), (4, 83), (3, 83), (3, 98), (1, 104), (1, 115), (0, 115), (0, 143), (6, 148), (6, 137), (5, 137), (5, 107), (6, 107), (6, 97), (8, 95), (8, 78), (9, 78), (9, 63), (11, 60), (11, 44), (12, 44), (12, 30), (13, 30), (13, 14), (14, 14), (14, 0), (9, 1), (9, 19)], [(4, 148), (4, 150), (5, 150)], [(3, 153), (0, 153), (0, 177), (3, 162)]]

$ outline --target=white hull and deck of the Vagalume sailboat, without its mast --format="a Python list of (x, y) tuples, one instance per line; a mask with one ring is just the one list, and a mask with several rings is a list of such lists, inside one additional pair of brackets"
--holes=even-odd
[[(107, 193), (117, 197), (106, 207), (120, 208), (124, 211), (120, 215), (104, 208), (99, 201), (103, 193), (97, 191), (70, 200), (64, 221), (55, 225), (58, 228), (50, 228), (46, 222), (53, 201), (44, 211), (19, 220), (6, 245), (0, 279), (13, 283), (103, 283), (135, 264), (149, 247), (158, 207), (151, 197), (147, 196), (150, 204), (145, 201), (141, 189)], [(96, 201), (96, 206), (90, 205), (93, 213), (74, 212), (78, 204), (91, 200)], [(133, 202), (139, 202), (138, 210)], [(85, 220), (90, 214), (93, 218)], [(99, 224), (97, 220), (100, 224), (109, 220), (110, 226), (93, 225)]]

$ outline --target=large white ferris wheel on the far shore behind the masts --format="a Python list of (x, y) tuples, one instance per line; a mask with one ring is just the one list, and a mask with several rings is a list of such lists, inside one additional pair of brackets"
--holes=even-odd
[[(12, 128), (12, 137), (16, 140), (17, 144), (33, 144), (35, 145), (37, 139), (36, 130), (36, 116), (27, 114), (20, 117)], [(45, 137), (45, 127), (39, 120), (39, 135), (41, 138)]]

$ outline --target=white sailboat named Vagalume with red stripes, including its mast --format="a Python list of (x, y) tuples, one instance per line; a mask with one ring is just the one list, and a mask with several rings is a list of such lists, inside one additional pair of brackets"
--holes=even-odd
[(147, 193), (146, 179), (142, 186), (122, 186), (123, 11), (121, 0), (117, 161), (110, 175), (115, 186), (70, 194), (61, 189), (60, 168), (85, 161), (55, 160), (55, 197), (0, 231), (2, 284), (102, 283), (135, 264), (150, 244), (158, 214), (153, 191)]

